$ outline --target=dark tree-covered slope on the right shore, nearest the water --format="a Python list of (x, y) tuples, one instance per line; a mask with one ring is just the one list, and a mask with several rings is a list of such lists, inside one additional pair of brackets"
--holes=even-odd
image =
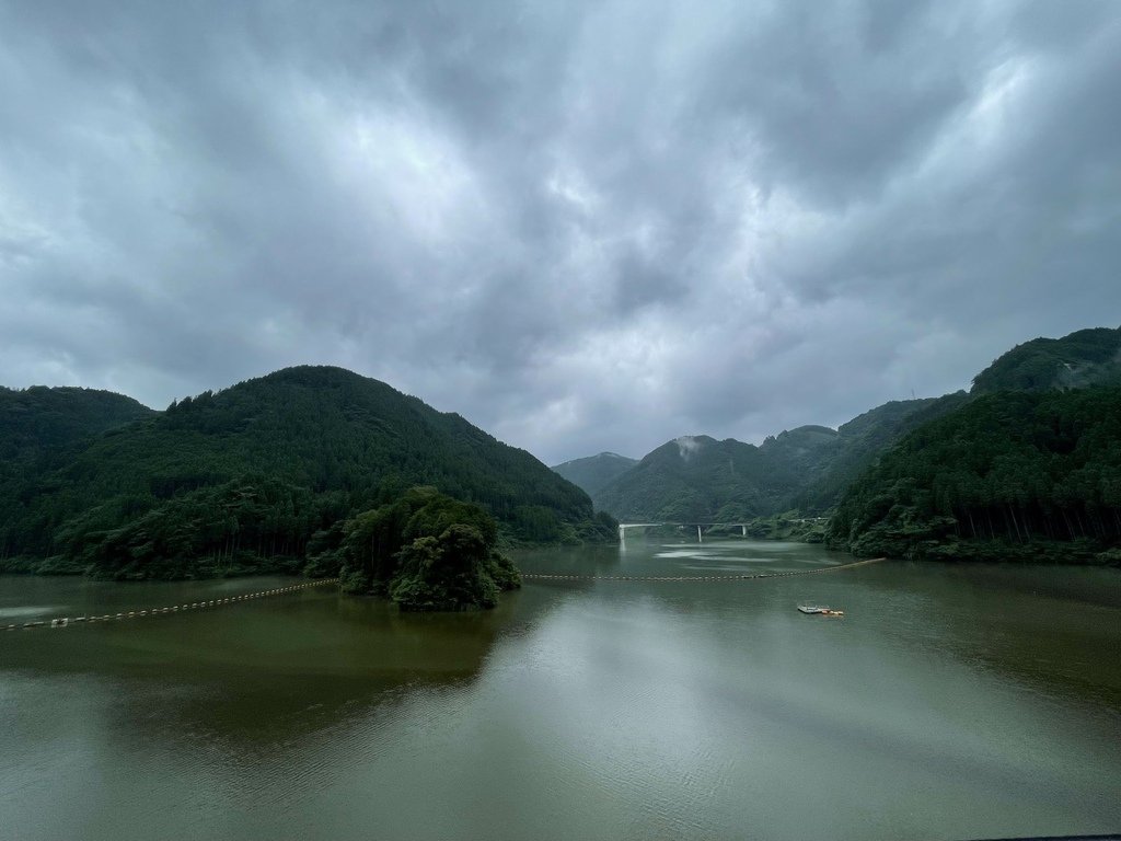
[(1121, 389), (982, 396), (906, 436), (845, 493), (861, 555), (1117, 563)]

